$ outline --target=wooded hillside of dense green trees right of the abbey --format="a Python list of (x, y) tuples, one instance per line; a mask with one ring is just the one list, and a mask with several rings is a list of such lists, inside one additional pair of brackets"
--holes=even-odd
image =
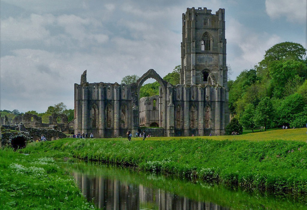
[(228, 81), (231, 115), (245, 129), (307, 123), (306, 49), (282, 42), (266, 50), (253, 69)]

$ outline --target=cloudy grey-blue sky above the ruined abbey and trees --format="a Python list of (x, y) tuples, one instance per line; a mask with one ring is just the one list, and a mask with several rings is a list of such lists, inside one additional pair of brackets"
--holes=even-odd
[(182, 13), (225, 8), (227, 64), (233, 74), (283, 41), (306, 48), (306, 0), (0, 0), (1, 107), (73, 109), (74, 83), (118, 82), (181, 64)]

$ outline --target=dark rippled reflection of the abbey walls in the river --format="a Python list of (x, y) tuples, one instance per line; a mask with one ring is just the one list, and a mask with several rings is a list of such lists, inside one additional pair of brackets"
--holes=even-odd
[(161, 189), (146, 188), (143, 185), (137, 186), (102, 177), (89, 178), (81, 173), (73, 173), (73, 176), (87, 200), (94, 198), (96, 207), (105, 207), (107, 210), (135, 210), (141, 207), (144, 207), (143, 209), (158, 207), (161, 210), (228, 210), (217, 204), (190, 200)]

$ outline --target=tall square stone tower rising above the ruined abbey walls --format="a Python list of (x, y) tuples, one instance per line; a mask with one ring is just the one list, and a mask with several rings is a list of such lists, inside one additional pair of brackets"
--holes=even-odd
[(187, 8), (182, 14), (180, 84), (210, 84), (212, 76), (227, 88), (225, 9)]

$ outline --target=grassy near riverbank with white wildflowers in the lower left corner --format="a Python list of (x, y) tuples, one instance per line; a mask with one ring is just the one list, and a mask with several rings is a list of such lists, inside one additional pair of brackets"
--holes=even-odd
[(6, 148), (0, 160), (0, 209), (95, 209), (53, 158)]

